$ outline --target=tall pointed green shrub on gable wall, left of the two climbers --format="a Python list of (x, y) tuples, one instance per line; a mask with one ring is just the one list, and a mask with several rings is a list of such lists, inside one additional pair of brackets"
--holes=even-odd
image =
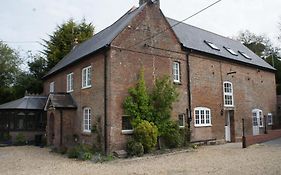
[[(138, 83), (135, 88), (129, 89), (129, 94), (124, 101), (125, 113), (136, 119), (152, 120), (152, 106), (144, 81), (144, 70), (141, 69)], [(134, 125), (134, 124), (133, 124)]]

